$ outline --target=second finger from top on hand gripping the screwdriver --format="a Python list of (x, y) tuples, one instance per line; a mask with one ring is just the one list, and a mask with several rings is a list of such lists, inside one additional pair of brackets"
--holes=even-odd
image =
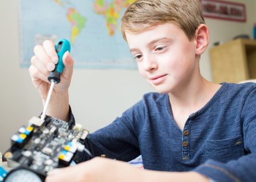
[[(54, 68), (55, 64), (53, 60), (48, 56), (47, 52), (45, 52), (45, 48), (41, 45), (37, 45), (34, 47), (34, 54), (37, 56), (39, 62), (42, 62), (45, 68)], [(48, 71), (52, 71), (51, 69)]]

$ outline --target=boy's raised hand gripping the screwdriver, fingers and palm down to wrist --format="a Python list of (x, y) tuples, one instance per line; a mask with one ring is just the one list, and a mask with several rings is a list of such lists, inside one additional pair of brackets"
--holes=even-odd
[[(29, 67), (29, 74), (31, 76), (34, 87), (38, 90), (43, 100), (46, 100), (50, 82), (48, 76), (50, 71), (53, 71), (55, 64), (58, 63), (58, 55), (52, 41), (44, 41), (43, 45), (34, 47), (34, 56), (31, 58), (31, 66)], [(61, 82), (56, 84), (52, 97), (54, 95), (67, 92), (72, 78), (73, 63), (69, 52), (63, 56), (64, 71), (61, 74)]]

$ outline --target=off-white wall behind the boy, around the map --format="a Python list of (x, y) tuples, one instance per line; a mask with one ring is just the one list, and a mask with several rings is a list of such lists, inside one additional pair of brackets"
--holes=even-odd
[[(214, 41), (230, 41), (240, 33), (252, 36), (256, 2), (237, 1), (246, 4), (247, 22), (206, 19), (211, 33), (209, 47)], [(18, 1), (1, 0), (0, 23), (0, 151), (4, 152), (10, 146), (10, 136), (31, 116), (38, 116), (42, 105), (28, 69), (19, 67)], [(211, 81), (208, 50), (200, 61), (203, 76)], [(149, 91), (153, 90), (138, 71), (75, 69), (70, 104), (76, 121), (94, 131), (120, 116)]]

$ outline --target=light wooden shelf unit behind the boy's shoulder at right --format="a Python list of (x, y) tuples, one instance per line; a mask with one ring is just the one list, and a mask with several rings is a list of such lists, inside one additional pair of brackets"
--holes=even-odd
[(210, 49), (213, 81), (241, 82), (256, 79), (256, 41), (236, 39)]

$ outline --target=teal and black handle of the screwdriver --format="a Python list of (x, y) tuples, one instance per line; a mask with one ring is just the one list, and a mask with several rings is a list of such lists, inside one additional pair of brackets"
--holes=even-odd
[(48, 80), (50, 82), (55, 82), (56, 84), (58, 84), (59, 82), (61, 82), (61, 73), (64, 69), (64, 63), (63, 63), (63, 55), (65, 52), (70, 52), (71, 46), (69, 41), (67, 41), (66, 39), (60, 39), (56, 45), (55, 45), (55, 50), (57, 52), (57, 55), (59, 57), (59, 61), (55, 66), (55, 69), (53, 71), (50, 72), (50, 75), (48, 76)]

